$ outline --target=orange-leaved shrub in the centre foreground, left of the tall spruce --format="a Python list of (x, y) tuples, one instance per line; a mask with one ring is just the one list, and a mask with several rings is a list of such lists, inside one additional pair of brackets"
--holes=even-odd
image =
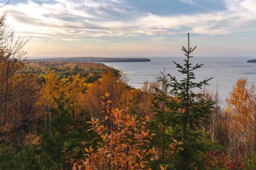
[[(110, 93), (106, 92), (104, 98)], [(150, 143), (154, 134), (147, 129), (149, 117), (130, 115), (129, 110), (111, 108), (112, 101), (102, 102), (103, 120), (92, 118), (89, 130), (97, 133), (97, 145), (85, 148), (85, 169), (151, 169), (157, 153)], [(91, 141), (90, 141), (91, 142)], [(74, 164), (79, 169), (81, 165)], [(76, 169), (74, 167), (74, 169)]]

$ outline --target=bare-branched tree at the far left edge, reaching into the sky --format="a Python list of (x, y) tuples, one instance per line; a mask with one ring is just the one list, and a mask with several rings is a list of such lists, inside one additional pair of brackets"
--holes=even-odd
[(28, 40), (16, 37), (5, 23), (6, 13), (0, 17), (0, 124), (5, 124), (8, 104), (12, 100), (11, 84), (16, 71), (22, 68)]

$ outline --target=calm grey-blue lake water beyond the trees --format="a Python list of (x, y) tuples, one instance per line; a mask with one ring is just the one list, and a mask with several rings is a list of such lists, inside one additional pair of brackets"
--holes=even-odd
[[(113, 62), (104, 63), (122, 70), (130, 77), (130, 84), (138, 88), (143, 82), (155, 82), (163, 68), (170, 75), (178, 79), (182, 76), (176, 71), (177, 68), (172, 61), (183, 63), (182, 57), (150, 58), (151, 62)], [(195, 57), (191, 59), (193, 64), (203, 63), (202, 68), (198, 68), (196, 73), (197, 81), (211, 78), (207, 90), (218, 91), (222, 100), (226, 99), (228, 92), (232, 89), (234, 83), (242, 77), (246, 77), (250, 83), (256, 84), (256, 63), (247, 63), (246, 61), (253, 58), (246, 57)]]

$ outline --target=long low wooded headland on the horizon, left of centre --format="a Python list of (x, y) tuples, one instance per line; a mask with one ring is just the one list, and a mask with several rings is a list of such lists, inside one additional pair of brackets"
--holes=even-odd
[(38, 61), (66, 61), (66, 62), (149, 62), (148, 58), (104, 58), (104, 57), (61, 57), (29, 59), (29, 62)]

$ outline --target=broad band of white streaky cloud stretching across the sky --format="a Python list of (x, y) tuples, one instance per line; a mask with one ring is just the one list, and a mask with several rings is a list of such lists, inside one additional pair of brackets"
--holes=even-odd
[[(187, 4), (193, 1), (183, 0)], [(117, 0), (54, 0), (8, 5), (8, 22), (24, 36), (85, 37), (164, 36), (193, 32), (221, 35), (255, 31), (256, 2), (225, 0), (226, 9), (209, 13), (160, 16)]]

